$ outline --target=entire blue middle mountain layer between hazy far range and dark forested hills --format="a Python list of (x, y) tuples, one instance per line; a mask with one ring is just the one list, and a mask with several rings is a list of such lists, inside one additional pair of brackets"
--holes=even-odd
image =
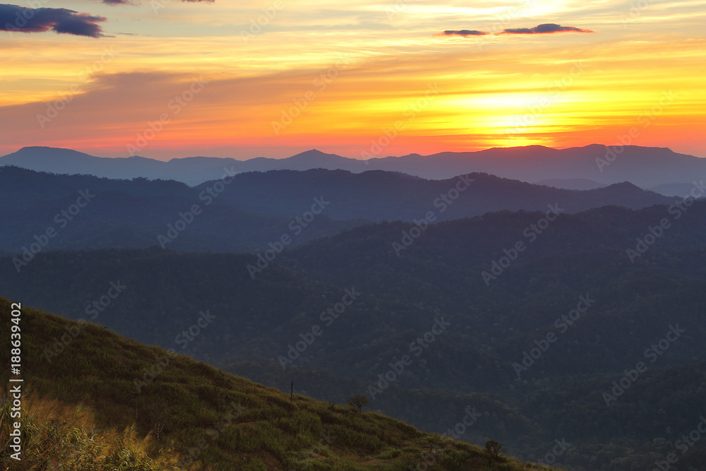
[(603, 205), (637, 209), (671, 201), (628, 183), (569, 191), (487, 174), (438, 181), (382, 171), (277, 170), (189, 187), (1, 167), (0, 249), (20, 254), (32, 244), (34, 252), (156, 245), (256, 252), (282, 244), (283, 237), (287, 246), (297, 246), (371, 221), (433, 222), (497, 210), (546, 211), (549, 205), (558, 205), (558, 213)]

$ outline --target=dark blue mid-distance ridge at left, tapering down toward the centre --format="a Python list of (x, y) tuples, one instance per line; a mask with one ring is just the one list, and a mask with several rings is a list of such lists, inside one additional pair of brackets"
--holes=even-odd
[[(115, 180), (0, 168), (0, 249), (14, 254), (100, 247), (255, 251), (289, 234), (297, 245), (364, 221), (318, 215), (301, 228), (292, 217), (223, 204), (225, 186), (193, 189), (177, 181)], [(220, 196), (220, 198), (219, 198)], [(301, 209), (311, 207), (311, 203)], [(31, 258), (26, 254), (25, 258)]]

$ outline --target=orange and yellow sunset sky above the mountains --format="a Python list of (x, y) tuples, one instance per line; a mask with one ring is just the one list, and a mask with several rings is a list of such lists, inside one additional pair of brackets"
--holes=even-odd
[(706, 157), (705, 17), (706, 0), (0, 4), (0, 155)]

